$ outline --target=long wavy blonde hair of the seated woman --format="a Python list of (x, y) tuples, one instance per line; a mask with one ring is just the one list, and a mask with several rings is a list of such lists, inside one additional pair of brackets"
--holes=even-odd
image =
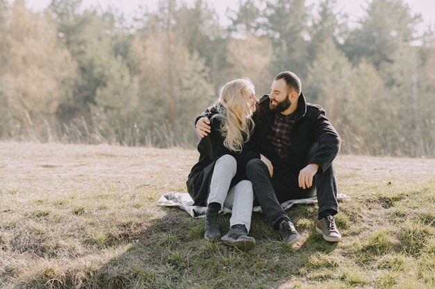
[(247, 99), (255, 94), (255, 87), (249, 78), (228, 82), (220, 89), (217, 111), (222, 119), (220, 132), (225, 137), (224, 146), (234, 152), (241, 152), (243, 143), (249, 141), (254, 130), (252, 107)]

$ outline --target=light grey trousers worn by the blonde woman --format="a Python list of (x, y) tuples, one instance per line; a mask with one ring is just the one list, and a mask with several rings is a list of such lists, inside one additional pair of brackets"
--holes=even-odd
[(210, 193), (207, 204), (217, 202), (221, 207), (231, 209), (229, 225), (245, 225), (247, 231), (251, 227), (252, 204), (254, 191), (248, 180), (231, 186), (231, 179), (236, 175), (237, 162), (231, 155), (223, 155), (217, 159), (211, 177)]

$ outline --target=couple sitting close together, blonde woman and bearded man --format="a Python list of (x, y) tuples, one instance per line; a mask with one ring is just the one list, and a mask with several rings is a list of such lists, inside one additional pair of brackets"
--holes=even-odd
[[(199, 161), (187, 187), (195, 205), (207, 207), (206, 240), (252, 249), (255, 239), (247, 234), (256, 202), (284, 242), (296, 243), (301, 236), (280, 203), (314, 195), (316, 231), (331, 242), (341, 239), (333, 217), (338, 204), (331, 164), (341, 140), (325, 111), (306, 103), (301, 89), (295, 73), (284, 71), (275, 76), (270, 94), (258, 100), (251, 80), (236, 79), (198, 116)], [(222, 207), (232, 210), (224, 236), (217, 222)]]

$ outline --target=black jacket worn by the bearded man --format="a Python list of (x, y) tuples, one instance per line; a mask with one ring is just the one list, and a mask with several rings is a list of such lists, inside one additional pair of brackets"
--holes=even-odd
[[(319, 105), (306, 103), (304, 94), (299, 96), (297, 103), (297, 120), (290, 131), (290, 141), (293, 144), (292, 159), (280, 159), (268, 140), (267, 132), (274, 123), (274, 112), (269, 108), (268, 95), (258, 101), (253, 119), (255, 121), (255, 139), (261, 154), (270, 159), (275, 173), (284, 173), (288, 169), (302, 169), (306, 164), (318, 164), (319, 171), (325, 172), (340, 150), (341, 139), (325, 116), (325, 110)], [(210, 118), (216, 112), (210, 107), (202, 116)], [(213, 128), (212, 128), (213, 131)], [(307, 159), (312, 149), (310, 159)]]

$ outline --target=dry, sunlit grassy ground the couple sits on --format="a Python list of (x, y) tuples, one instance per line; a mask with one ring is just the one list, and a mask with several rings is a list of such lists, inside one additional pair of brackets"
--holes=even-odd
[(433, 159), (339, 157), (338, 191), (352, 198), (336, 216), (342, 242), (315, 231), (315, 205), (297, 205), (299, 243), (254, 213), (245, 253), (156, 205), (186, 191), (195, 151), (0, 143), (0, 155), (0, 288), (435, 286)]

